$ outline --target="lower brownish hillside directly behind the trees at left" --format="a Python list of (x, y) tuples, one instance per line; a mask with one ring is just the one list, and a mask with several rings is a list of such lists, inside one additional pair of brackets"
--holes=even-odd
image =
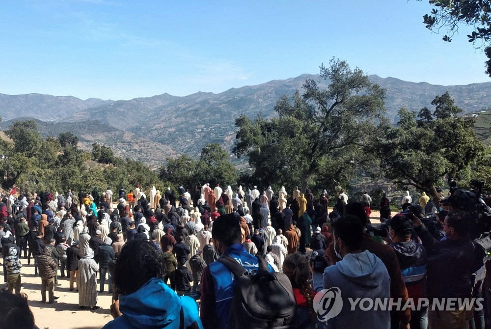
[[(140, 160), (151, 168), (159, 167), (168, 157), (176, 153), (168, 146), (153, 142), (147, 138), (138, 137), (133, 133), (119, 130), (100, 121), (83, 122), (46, 122), (34, 118), (18, 118), (0, 123), (0, 129), (6, 130), (18, 120), (35, 120), (38, 130), (43, 137), (58, 137), (62, 132), (70, 132), (79, 137), (82, 149), (92, 150), (92, 143), (98, 142), (109, 146), (114, 154), (124, 158)], [(3, 134), (3, 132), (1, 132)], [(1, 137), (1, 135), (0, 135)]]

